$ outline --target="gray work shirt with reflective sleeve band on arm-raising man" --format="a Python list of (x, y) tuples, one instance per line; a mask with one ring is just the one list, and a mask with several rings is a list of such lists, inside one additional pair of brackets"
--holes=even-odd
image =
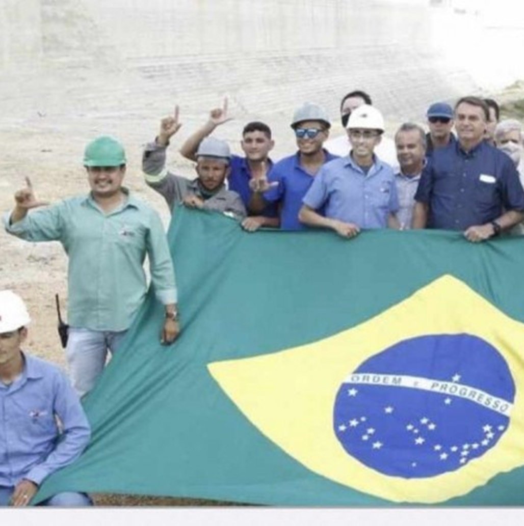
[(172, 174), (165, 167), (165, 146), (156, 142), (149, 143), (142, 156), (142, 170), (145, 182), (161, 194), (167, 202), (171, 213), (177, 203), (181, 203), (187, 196), (195, 195), (204, 200), (206, 210), (216, 210), (238, 219), (246, 216), (246, 211), (239, 194), (226, 189), (225, 185), (211, 197), (205, 197), (200, 190), (198, 179), (190, 181), (185, 177)]

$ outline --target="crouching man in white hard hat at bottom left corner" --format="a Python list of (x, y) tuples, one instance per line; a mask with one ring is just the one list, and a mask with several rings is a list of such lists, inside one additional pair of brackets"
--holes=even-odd
[[(90, 426), (67, 378), (22, 351), (31, 322), (21, 297), (0, 290), (0, 506), (26, 506), (51, 473), (87, 446)], [(60, 419), (60, 427), (57, 420)], [(89, 506), (85, 493), (64, 492), (45, 506)]]

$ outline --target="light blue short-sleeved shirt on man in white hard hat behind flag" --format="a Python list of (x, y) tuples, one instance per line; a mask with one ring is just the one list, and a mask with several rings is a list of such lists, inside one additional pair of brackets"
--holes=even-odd
[(303, 203), (361, 228), (387, 228), (399, 209), (393, 169), (377, 156), (367, 174), (349, 155), (335, 159), (320, 169)]

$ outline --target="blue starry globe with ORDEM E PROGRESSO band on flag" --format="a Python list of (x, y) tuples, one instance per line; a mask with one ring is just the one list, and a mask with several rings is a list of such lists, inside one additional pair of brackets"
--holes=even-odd
[(485, 340), (422, 336), (372, 356), (345, 378), (334, 403), (334, 432), (369, 468), (433, 477), (495, 447), (514, 400), (507, 363)]

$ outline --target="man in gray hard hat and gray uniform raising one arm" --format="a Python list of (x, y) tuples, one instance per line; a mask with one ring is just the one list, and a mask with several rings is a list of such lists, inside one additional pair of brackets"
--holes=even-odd
[(246, 215), (239, 194), (225, 187), (229, 175), (231, 153), (228, 144), (214, 137), (206, 137), (196, 151), (194, 180), (172, 174), (165, 167), (165, 150), (169, 140), (180, 129), (178, 108), (175, 115), (160, 123), (159, 135), (146, 145), (142, 156), (142, 170), (148, 186), (164, 197), (171, 213), (182, 203), (190, 208), (215, 210), (236, 219)]

